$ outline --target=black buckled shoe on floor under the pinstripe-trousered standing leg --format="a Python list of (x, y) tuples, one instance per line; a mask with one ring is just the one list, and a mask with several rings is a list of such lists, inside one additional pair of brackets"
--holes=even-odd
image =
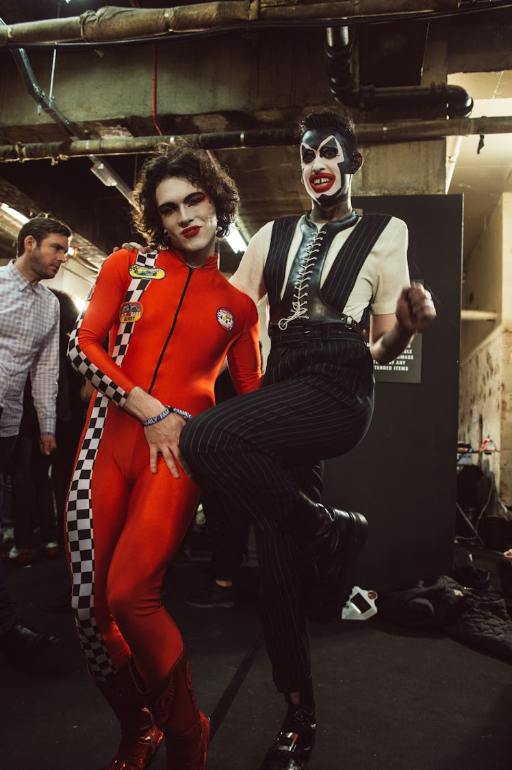
[(279, 734), (259, 770), (303, 770), (310, 761), (315, 735), (313, 708), (305, 704), (290, 705)]

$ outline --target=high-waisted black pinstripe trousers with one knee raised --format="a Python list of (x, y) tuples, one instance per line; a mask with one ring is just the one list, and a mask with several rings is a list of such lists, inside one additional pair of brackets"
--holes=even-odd
[(372, 359), (360, 336), (347, 333), (273, 345), (260, 390), (206, 410), (182, 430), (180, 448), (199, 484), (255, 525), (263, 631), (284, 693), (311, 687), (309, 563), (293, 537), (293, 507), (300, 491), (319, 498), (320, 461), (356, 446), (372, 411)]

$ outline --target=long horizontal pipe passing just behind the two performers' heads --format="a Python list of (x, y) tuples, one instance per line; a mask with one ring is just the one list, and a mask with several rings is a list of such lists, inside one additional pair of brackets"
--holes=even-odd
[[(480, 134), (512, 133), (512, 116), (457, 118), (452, 120), (403, 121), (393, 123), (366, 123), (356, 126), (360, 145), (389, 144), (390, 142), (420, 142), (443, 139), (445, 136), (480, 136)], [(180, 135), (194, 146), (203, 149), (236, 149), (241, 147), (294, 146), (296, 129), (264, 129), (258, 131), (231, 131), (209, 134)], [(173, 142), (175, 136), (119, 136), (112, 139), (79, 139), (63, 142), (44, 142), (0, 146), (0, 162), (67, 160), (80, 156), (133, 155), (152, 152), (161, 142)]]

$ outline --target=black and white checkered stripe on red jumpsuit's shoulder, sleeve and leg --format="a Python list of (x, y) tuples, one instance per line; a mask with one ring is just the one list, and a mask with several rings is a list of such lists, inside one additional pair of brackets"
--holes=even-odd
[[(138, 265), (154, 267), (156, 253), (139, 254)], [(150, 280), (133, 278), (125, 296), (125, 302), (137, 302), (146, 290)], [(105, 426), (109, 400), (119, 407), (125, 403), (127, 393), (106, 377), (98, 367), (82, 353), (78, 344), (78, 333), (85, 310), (79, 316), (69, 340), (69, 360), (99, 390), (85, 433), (79, 457), (69, 488), (66, 531), (69, 543), (69, 558), (72, 567), (72, 608), (79, 638), (95, 678), (103, 681), (114, 672), (114, 665), (105, 647), (95, 620), (94, 610), (94, 536), (91, 500), (91, 480), (95, 457)], [(129, 346), (134, 322), (121, 323), (115, 340), (112, 358), (118, 366), (122, 363)]]

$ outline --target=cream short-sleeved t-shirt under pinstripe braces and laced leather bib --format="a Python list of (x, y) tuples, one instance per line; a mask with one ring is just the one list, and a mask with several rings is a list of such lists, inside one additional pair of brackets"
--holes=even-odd
[[(360, 221), (361, 219), (358, 219), (353, 227), (341, 230), (334, 237), (323, 266), (321, 284), (333, 266), (341, 246)], [(231, 283), (240, 291), (249, 294), (256, 304), (267, 293), (263, 281), (263, 269), (269, 253), (272, 227), (273, 222), (266, 223), (251, 238), (246, 253), (242, 257), (236, 273), (231, 278)], [(289, 246), (281, 296), (283, 296), (286, 280), (301, 241), (302, 232), (299, 219)], [(410, 283), (407, 266), (407, 243), (406, 223), (402, 219), (392, 216), (360, 269), (355, 286), (343, 310), (347, 316), (352, 316), (356, 321), (360, 321), (369, 304), (371, 313), (376, 316), (395, 312), (403, 286), (409, 286)]]

